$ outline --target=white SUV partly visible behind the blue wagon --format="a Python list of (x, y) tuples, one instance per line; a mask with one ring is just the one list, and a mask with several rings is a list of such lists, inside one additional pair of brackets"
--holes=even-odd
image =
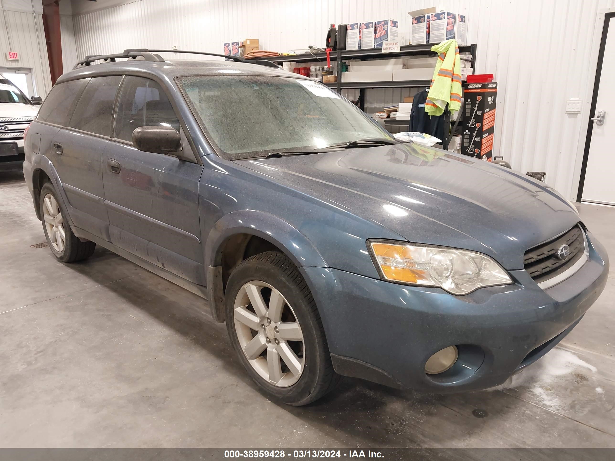
[(0, 169), (23, 163), (23, 132), (38, 113), (31, 101), (7, 79), (0, 79)]

